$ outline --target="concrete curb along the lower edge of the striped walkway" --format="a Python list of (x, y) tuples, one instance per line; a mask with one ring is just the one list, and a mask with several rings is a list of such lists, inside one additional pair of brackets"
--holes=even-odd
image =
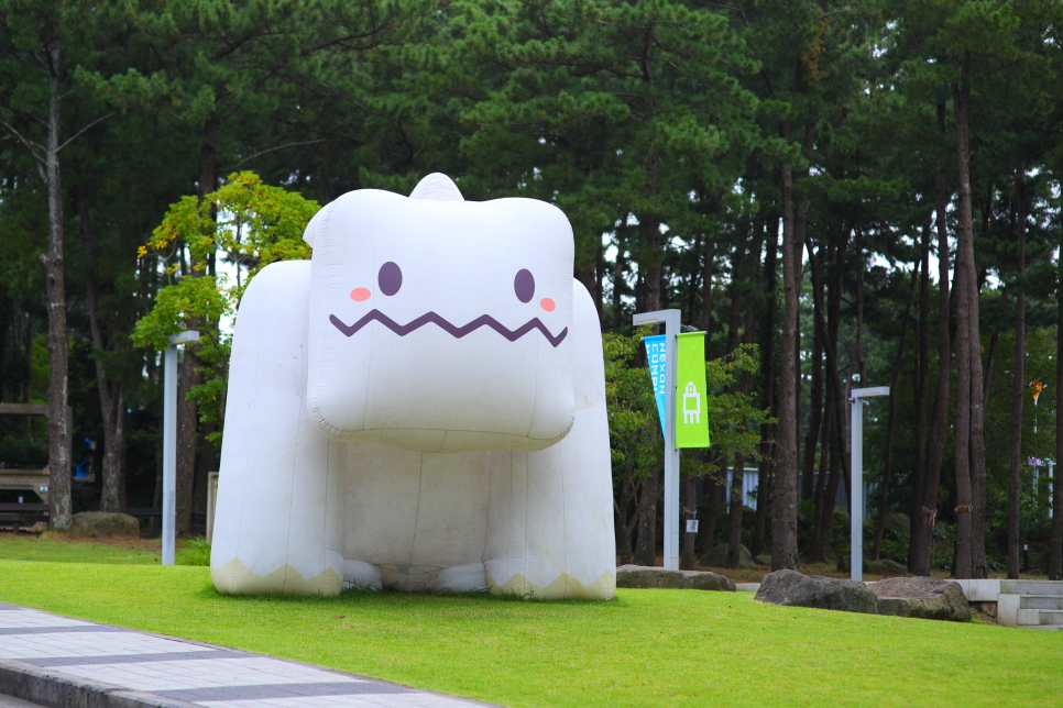
[(202, 708), (10, 659), (0, 660), (0, 694), (48, 708)]

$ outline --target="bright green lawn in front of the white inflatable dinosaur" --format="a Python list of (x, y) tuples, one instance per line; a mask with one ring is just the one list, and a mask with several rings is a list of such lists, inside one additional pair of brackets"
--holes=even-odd
[(0, 562), (0, 601), (506, 706), (1063, 705), (1063, 632), (621, 590), (231, 598), (206, 568)]

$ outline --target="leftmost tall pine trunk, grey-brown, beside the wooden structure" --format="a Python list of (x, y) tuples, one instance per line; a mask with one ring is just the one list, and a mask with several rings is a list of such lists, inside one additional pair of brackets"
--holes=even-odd
[(66, 531), (74, 521), (70, 501), (72, 421), (67, 417), (68, 347), (66, 332), (66, 280), (63, 255), (63, 182), (59, 174), (59, 123), (62, 120), (63, 47), (58, 33), (48, 43), (48, 144), (45, 184), (48, 191), (48, 253), (45, 283), (48, 308), (48, 524)]

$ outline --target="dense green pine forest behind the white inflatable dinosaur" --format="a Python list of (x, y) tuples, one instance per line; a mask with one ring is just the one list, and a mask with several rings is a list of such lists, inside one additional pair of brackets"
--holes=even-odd
[[(653, 564), (661, 522), (631, 314), (679, 308), (709, 333), (720, 412), (683, 461), (684, 565), (721, 540), (732, 565), (739, 540), (775, 568), (845, 553), (848, 391), (888, 385), (870, 555), (1063, 575), (1059, 2), (0, 0), (0, 399), (56, 413), (2, 417), (0, 462), (51, 465), (54, 528), (158, 506), (161, 362), (132, 334), (167, 291), (298, 257), (316, 204), (441, 172), (572, 223), (622, 561)], [(276, 239), (202, 248), (233, 203), (245, 241)], [(180, 213), (191, 231), (161, 225)], [(183, 533), (223, 420), (208, 300), (167, 306), (212, 333), (182, 367)]]

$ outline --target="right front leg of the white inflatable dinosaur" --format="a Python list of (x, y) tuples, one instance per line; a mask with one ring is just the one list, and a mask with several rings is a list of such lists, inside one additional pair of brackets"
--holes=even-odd
[(492, 453), (487, 585), (493, 593), (612, 599), (616, 590), (605, 368), (598, 312), (573, 284), (576, 421), (556, 445)]

